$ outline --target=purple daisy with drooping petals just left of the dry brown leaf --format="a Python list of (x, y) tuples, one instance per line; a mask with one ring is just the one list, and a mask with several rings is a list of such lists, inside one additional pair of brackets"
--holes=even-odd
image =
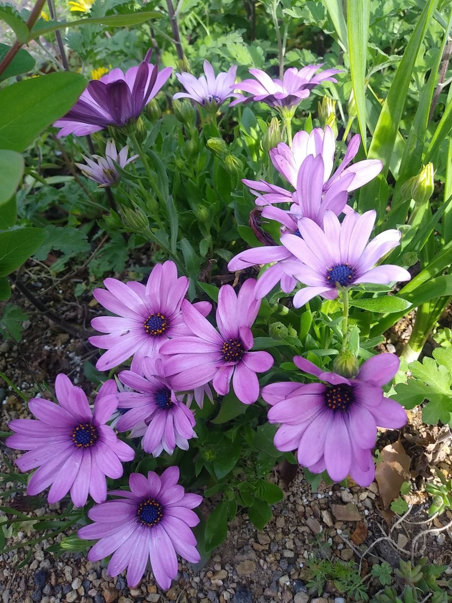
[(397, 429), (407, 420), (402, 406), (381, 390), (397, 373), (400, 360), (395, 354), (373, 356), (353, 379), (328, 373), (301, 356), (293, 362), (326, 385), (281, 382), (263, 388), (262, 397), (272, 406), (268, 420), (281, 423), (275, 447), (298, 449), (298, 463), (312, 473), (326, 469), (336, 482), (351, 475), (368, 486), (375, 476), (371, 450), (377, 425)]

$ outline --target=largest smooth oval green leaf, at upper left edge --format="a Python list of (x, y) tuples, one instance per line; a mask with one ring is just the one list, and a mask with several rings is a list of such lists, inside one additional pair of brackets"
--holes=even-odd
[(24, 151), (40, 131), (71, 109), (86, 84), (80, 74), (58, 72), (0, 90), (0, 148)]

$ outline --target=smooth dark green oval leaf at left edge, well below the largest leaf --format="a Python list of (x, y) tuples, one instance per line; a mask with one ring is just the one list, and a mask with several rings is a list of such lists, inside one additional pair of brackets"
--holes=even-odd
[(39, 228), (0, 233), (0, 277), (10, 274), (30, 257), (45, 239)]

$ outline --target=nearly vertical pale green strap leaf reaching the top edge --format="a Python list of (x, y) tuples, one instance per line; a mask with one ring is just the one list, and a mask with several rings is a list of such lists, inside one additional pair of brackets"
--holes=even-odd
[(347, 0), (348, 57), (357, 118), (364, 150), (366, 128), (366, 57), (369, 37), (370, 0)]

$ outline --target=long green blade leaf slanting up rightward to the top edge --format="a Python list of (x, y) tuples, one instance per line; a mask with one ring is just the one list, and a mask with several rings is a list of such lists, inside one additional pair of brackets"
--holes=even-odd
[[(368, 159), (381, 159), (383, 162), (381, 178), (388, 174), (389, 162), (394, 150), (405, 101), (408, 97), (416, 57), (418, 56), (419, 48), (421, 47), (422, 40), (437, 4), (438, 0), (428, 0), (425, 3), (424, 10), (421, 16), (419, 16), (416, 27), (410, 36), (394, 80), (392, 80), (388, 96), (386, 96), (385, 103), (378, 117), (369, 148)], [(374, 178), (372, 182), (361, 189), (360, 211), (374, 209), (375, 198), (379, 198), (378, 189), (380, 188), (381, 178)]]

